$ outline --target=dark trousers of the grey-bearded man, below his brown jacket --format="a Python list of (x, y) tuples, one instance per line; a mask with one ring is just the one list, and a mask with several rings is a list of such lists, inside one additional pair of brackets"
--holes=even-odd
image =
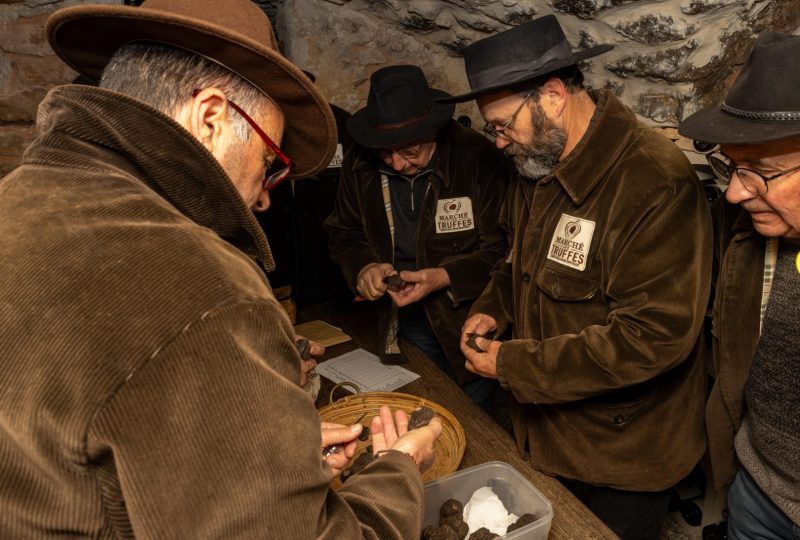
[(660, 540), (671, 489), (623, 491), (577, 480), (559, 480), (622, 540)]

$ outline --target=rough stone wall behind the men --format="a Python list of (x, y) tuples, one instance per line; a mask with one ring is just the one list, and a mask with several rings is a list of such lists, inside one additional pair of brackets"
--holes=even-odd
[[(391, 64), (420, 65), (433, 86), (465, 91), (464, 47), (555, 13), (574, 47), (616, 45), (584, 66), (591, 86), (612, 89), (648, 122), (674, 126), (718, 101), (757, 33), (800, 31), (797, 0), (257, 1), (275, 20), (284, 53), (349, 111), (364, 105), (370, 74)], [(0, 175), (35, 136), (47, 90), (75, 77), (50, 51), (43, 27), (55, 9), (81, 3), (0, 0)], [(481, 124), (471, 103), (457, 114)]]

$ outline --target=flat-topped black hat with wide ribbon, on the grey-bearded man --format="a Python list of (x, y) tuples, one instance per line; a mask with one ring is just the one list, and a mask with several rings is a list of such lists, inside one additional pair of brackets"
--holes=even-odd
[(575, 65), (613, 48), (613, 45), (597, 45), (573, 53), (558, 19), (555, 15), (546, 15), (465, 48), (464, 68), (471, 90), (442, 101), (469, 101)]

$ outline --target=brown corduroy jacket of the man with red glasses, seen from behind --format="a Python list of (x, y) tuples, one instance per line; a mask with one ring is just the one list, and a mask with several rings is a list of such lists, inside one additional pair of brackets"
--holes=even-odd
[(333, 492), (263, 232), (167, 116), (65, 86), (0, 181), (0, 538), (419, 538), (402, 454)]

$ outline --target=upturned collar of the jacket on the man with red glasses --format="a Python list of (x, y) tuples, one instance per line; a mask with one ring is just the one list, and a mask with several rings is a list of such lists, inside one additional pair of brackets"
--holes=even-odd
[(38, 144), (23, 162), (130, 173), (187, 218), (274, 268), (263, 230), (222, 166), (168, 116), (116, 92), (68, 85), (42, 101), (37, 124)]

